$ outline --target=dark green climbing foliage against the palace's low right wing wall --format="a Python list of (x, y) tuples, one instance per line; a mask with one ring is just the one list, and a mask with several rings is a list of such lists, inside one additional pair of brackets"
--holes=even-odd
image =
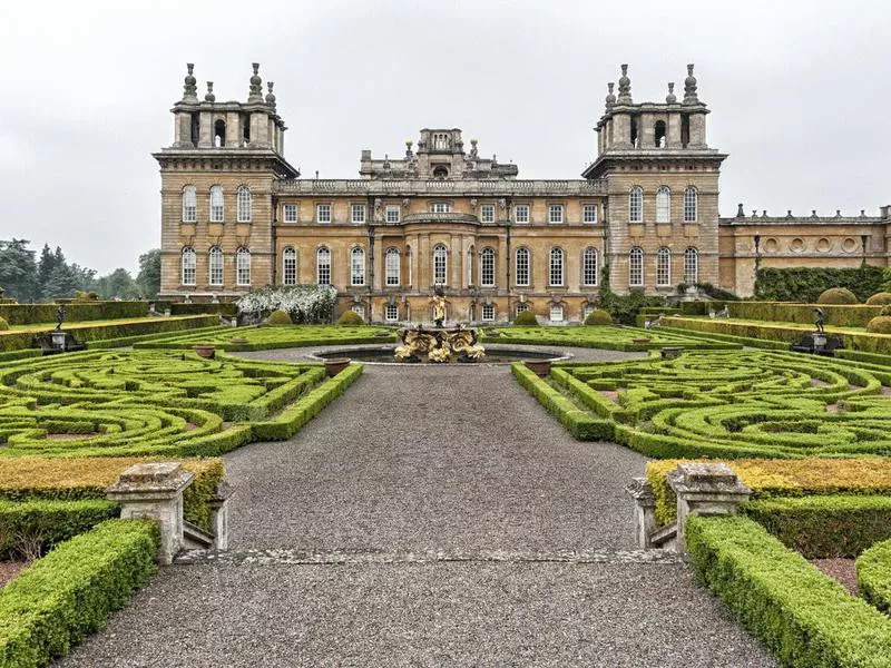
[(846, 269), (825, 267), (762, 268), (755, 278), (755, 296), (773, 302), (816, 302), (831, 287), (846, 287), (861, 302), (882, 291), (883, 269), (861, 266)]

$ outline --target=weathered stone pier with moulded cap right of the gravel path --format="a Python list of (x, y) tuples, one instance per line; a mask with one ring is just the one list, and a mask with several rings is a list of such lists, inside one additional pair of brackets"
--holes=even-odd
[(686, 551), (685, 525), (692, 514), (732, 515), (752, 494), (724, 463), (683, 463), (668, 473), (677, 495), (677, 549)]

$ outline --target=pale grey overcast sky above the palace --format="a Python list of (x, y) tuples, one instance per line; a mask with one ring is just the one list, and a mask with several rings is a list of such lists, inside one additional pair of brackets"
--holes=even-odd
[(696, 63), (708, 141), (728, 153), (722, 215), (891, 204), (891, 3), (495, 1), (0, 3), (0, 239), (61, 245), (107, 273), (159, 245), (170, 105), (195, 62), (204, 96), (275, 81), (285, 155), (358, 176), (422, 127), (460, 127), (520, 178), (595, 157), (606, 82), (683, 95)]

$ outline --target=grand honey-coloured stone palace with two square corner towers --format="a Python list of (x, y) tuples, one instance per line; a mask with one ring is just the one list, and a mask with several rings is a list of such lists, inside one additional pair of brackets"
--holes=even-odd
[(718, 215), (721, 165), (693, 66), (683, 97), (635, 104), (628, 67), (608, 85), (597, 156), (571, 180), (525, 180), (458, 128), (425, 128), (399, 159), (361, 155), (359, 178), (305, 179), (284, 157), (273, 82), (253, 66), (246, 102), (197, 97), (188, 65), (161, 173), (161, 297), (233, 299), (331, 284), (369, 322), (579, 322), (604, 282), (669, 295), (679, 284), (752, 294), (755, 267), (888, 265), (880, 216)]

